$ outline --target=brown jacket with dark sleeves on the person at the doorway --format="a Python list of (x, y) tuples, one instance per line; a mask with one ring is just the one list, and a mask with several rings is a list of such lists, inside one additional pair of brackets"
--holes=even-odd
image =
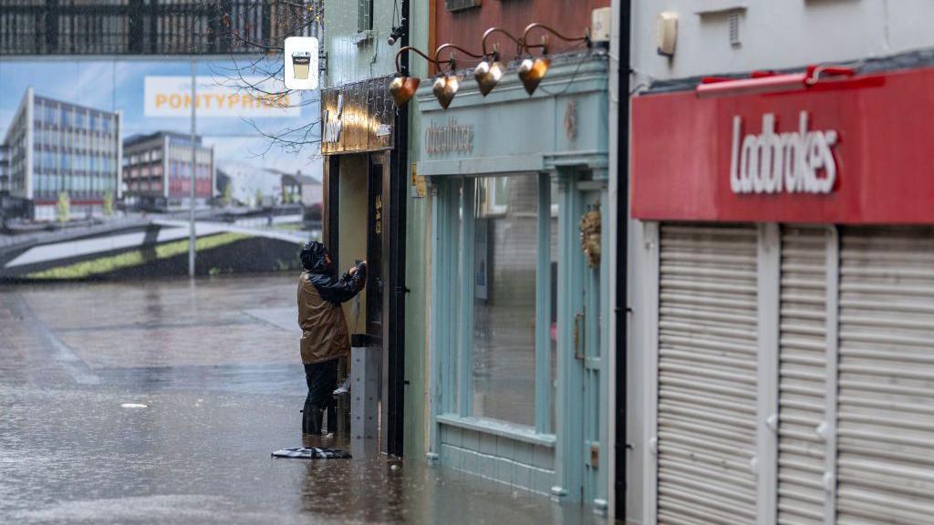
[[(361, 275), (335, 279), (306, 271), (299, 277), (298, 323), (302, 327), (302, 362), (305, 364), (331, 361), (350, 351), (347, 319), (340, 302), (363, 288), (365, 273), (359, 273)], [(321, 290), (325, 291), (323, 295)], [(340, 293), (335, 294), (337, 290)]]

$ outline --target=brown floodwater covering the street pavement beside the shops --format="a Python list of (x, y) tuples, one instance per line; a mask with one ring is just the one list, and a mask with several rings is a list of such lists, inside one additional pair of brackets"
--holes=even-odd
[[(375, 443), (303, 443), (294, 294), (294, 276), (0, 288), (0, 523), (600, 522)], [(354, 458), (270, 457), (303, 444)]]

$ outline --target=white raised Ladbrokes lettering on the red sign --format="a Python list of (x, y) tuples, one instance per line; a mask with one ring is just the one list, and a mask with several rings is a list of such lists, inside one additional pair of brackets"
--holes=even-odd
[(808, 131), (801, 111), (798, 131), (775, 133), (775, 116), (762, 116), (762, 133), (741, 135), (743, 119), (733, 117), (729, 189), (734, 193), (829, 193), (837, 180), (833, 148), (836, 131)]

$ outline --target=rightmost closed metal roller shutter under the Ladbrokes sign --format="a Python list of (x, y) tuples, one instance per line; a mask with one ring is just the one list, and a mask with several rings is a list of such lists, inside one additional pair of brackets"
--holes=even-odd
[(841, 237), (837, 516), (934, 523), (934, 230)]

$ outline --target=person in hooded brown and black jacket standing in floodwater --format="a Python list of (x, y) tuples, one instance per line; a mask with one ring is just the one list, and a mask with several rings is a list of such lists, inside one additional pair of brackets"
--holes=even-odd
[(366, 284), (366, 261), (358, 262), (338, 278), (331, 254), (323, 244), (311, 241), (300, 255), (304, 272), (298, 279), (298, 323), (302, 327), (302, 362), (308, 385), (302, 433), (320, 434), (324, 411), (333, 404), (337, 360), (350, 352), (341, 303), (357, 295)]

